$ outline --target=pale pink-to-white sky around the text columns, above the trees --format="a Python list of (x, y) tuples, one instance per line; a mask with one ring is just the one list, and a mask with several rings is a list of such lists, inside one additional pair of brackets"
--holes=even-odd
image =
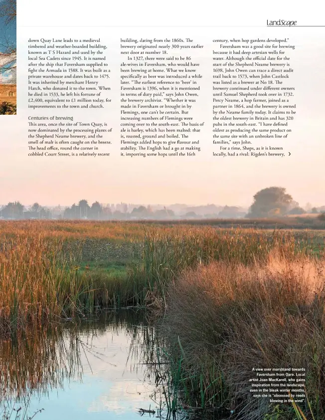
[[(265, 27), (266, 19), (298, 20), (300, 25), (322, 24), (320, 16), (299, 9), (297, 3), (281, 4), (280, 12), (270, 15), (260, 2), (251, 6), (238, 2), (232, 13), (222, 14), (220, 5), (210, 2), (165, 2), (155, 20), (150, 19), (145, 4), (152, 10), (152, 2), (143, 7), (130, 2), (123, 5), (103, 2), (103, 10), (89, 9), (89, 2), (65, 2), (66, 12), (60, 12), (60, 1), (55, 10), (42, 17), (44, 3), (32, 0), (21, 4), (17, 29), (17, 116), (0, 116), (0, 183), (1, 203), (19, 200), (37, 201), (42, 205), (71, 205), (80, 199), (102, 203), (186, 203), (189, 205), (221, 204), (249, 206), (253, 195), (270, 186), (285, 187), (301, 206), (307, 202), (325, 205), (324, 134), (325, 65), (324, 27)], [(42, 6), (40, 6), (42, 4)], [(63, 3), (62, 3), (63, 4)], [(174, 11), (167, 13), (168, 4)], [(193, 3), (194, 4), (194, 3)], [(267, 4), (265, 5), (265, 7)], [(255, 8), (254, 8), (255, 7)], [(309, 6), (313, 9), (312, 4)], [(107, 8), (107, 12), (105, 9)], [(276, 4), (272, 6), (277, 10)], [(73, 21), (69, 12), (73, 10)], [(145, 12), (143, 12), (145, 10)], [(148, 9), (149, 10), (149, 9)], [(290, 10), (290, 12), (289, 12)], [(294, 12), (293, 12), (294, 10)], [(122, 13), (122, 14), (121, 14)], [(276, 15), (275, 15), (276, 14)], [(71, 14), (72, 15), (72, 14)], [(178, 16), (178, 19), (177, 19)], [(223, 17), (222, 17), (223, 16)], [(227, 17), (224, 17), (227, 16)], [(138, 18), (137, 18), (138, 17)], [(221, 18), (222, 17), (222, 18)], [(128, 24), (146, 27), (127, 27)], [(41, 24), (41, 26), (39, 26)], [(73, 26), (69, 26), (73, 24)], [(107, 25), (113, 25), (108, 27)], [(156, 26), (148, 26), (155, 24)], [(163, 27), (163, 25), (195, 27)], [(206, 25), (204, 29), (199, 25)], [(59, 26), (58, 26), (59, 25)], [(97, 25), (98, 27), (95, 27)], [(124, 26), (116, 26), (124, 25)], [(219, 25), (212, 27), (211, 25)], [(226, 26), (228, 25), (228, 26)], [(251, 26), (249, 26), (251, 25)], [(193, 52), (201, 63), (200, 97), (195, 117), (204, 121), (200, 137), (201, 152), (193, 158), (122, 158), (120, 157), (120, 38), (126, 37), (190, 37), (204, 48)], [(99, 38), (108, 46), (107, 62), (111, 69), (111, 98), (113, 106), (102, 111), (28, 110), (27, 100), (27, 44), (29, 38), (76, 37)], [(292, 86), (296, 87), (296, 119), (287, 140), (281, 140), (285, 158), (216, 158), (212, 156), (212, 49), (213, 39), (289, 38), (296, 45), (287, 54), (294, 69)], [(194, 113), (194, 112), (193, 112)], [(107, 122), (113, 127), (111, 156), (109, 158), (39, 158), (27, 157), (27, 118), (29, 115), (72, 116), (74, 121)], [(263, 140), (267, 142), (267, 140)], [(289, 152), (291, 156), (289, 157)]]

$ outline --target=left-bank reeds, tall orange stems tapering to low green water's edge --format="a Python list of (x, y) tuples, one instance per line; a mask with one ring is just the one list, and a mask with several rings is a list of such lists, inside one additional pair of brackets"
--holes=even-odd
[(76, 249), (41, 233), (15, 235), (0, 246), (0, 336), (29, 324), (56, 323), (96, 310), (140, 305), (144, 285), (128, 271), (81, 271)]

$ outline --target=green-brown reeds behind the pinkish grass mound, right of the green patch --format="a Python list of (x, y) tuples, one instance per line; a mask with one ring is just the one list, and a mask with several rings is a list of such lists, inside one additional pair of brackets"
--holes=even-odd
[(212, 261), (251, 265), (266, 262), (269, 253), (277, 252), (287, 260), (312, 254), (305, 237), (292, 232), (258, 231), (256, 229), (215, 229), (212, 227), (176, 227), (169, 230), (149, 229), (144, 238), (143, 257), (133, 278), (144, 278), (152, 303), (165, 305), (165, 290), (185, 269)]

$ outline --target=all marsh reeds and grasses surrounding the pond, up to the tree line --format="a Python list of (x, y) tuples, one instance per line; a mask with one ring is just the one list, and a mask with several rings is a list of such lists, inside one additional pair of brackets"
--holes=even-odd
[[(33, 383), (55, 387), (46, 369), (33, 376), (30, 369), (38, 365), (32, 355), (45, 345), (51, 360), (62, 345), (53, 333), (43, 336), (43, 344), (31, 340), (35, 330), (58, 331), (67, 320), (87, 322), (132, 307), (145, 310), (155, 325), (150, 345), (137, 339), (132, 348), (142, 349), (170, 416), (322, 420), (324, 268), (321, 231), (2, 221), (2, 350), (28, 340), (34, 350), (25, 346), (14, 374), (3, 370), (1, 395), (19, 394), (20, 380), (28, 390)], [(52, 365), (52, 374), (72, 369)], [(253, 367), (305, 368), (308, 400), (297, 409), (253, 399)]]

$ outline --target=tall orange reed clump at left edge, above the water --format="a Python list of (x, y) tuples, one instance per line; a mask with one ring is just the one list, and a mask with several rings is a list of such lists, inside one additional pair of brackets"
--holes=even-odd
[(63, 283), (73, 272), (59, 254), (60, 244), (40, 234), (16, 235), (1, 243), (0, 332), (58, 316)]

